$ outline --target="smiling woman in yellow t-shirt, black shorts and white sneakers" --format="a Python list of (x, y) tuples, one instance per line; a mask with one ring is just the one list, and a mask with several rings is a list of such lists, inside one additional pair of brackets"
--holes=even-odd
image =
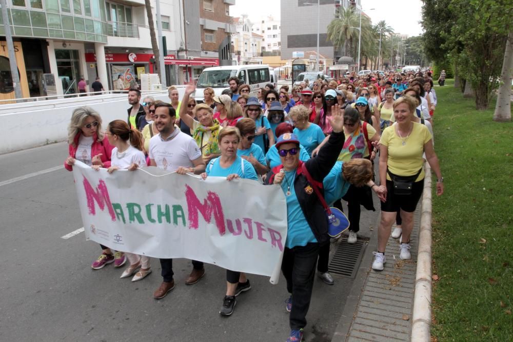
[(372, 269), (377, 271), (384, 268), (386, 244), (399, 210), (403, 221), (399, 257), (411, 258), (409, 240), (413, 229), (413, 213), (424, 189), (424, 152), (438, 178), (437, 195), (444, 192), (431, 133), (425, 125), (413, 122), (416, 107), (417, 100), (409, 95), (397, 99), (393, 103), (393, 116), (397, 124), (385, 128), (380, 140), (380, 190), (384, 191), (386, 199), (381, 203), (378, 251), (373, 252)]

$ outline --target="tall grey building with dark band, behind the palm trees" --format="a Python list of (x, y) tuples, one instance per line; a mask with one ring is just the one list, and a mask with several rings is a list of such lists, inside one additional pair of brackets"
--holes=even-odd
[[(360, 6), (361, 0), (341, 0), (340, 7), (352, 4)], [(333, 56), (333, 44), (328, 40), (328, 25), (335, 17), (337, 7), (333, 0), (319, 0), (319, 6), (310, 5), (315, 1), (281, 0), (281, 54), (282, 58), (292, 58), (294, 51), (317, 51), (317, 18), (320, 11), (319, 53)], [(293, 13), (293, 15), (291, 15)]]

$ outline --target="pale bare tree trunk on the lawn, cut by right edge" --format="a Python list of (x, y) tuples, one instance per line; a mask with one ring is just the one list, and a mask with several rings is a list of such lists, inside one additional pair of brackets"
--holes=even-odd
[(513, 80), (513, 32), (510, 32), (504, 51), (502, 63), (501, 85), (497, 93), (494, 121), (511, 121), (511, 81)]

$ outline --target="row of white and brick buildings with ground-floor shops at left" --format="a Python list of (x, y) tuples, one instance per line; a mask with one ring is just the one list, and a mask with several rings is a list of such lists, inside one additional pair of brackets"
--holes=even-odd
[[(117, 79), (121, 78), (127, 89), (138, 82), (142, 73), (155, 70), (144, 0), (7, 0), (7, 3), (15, 50), (19, 52), (16, 61), (24, 97), (77, 93), (81, 77), (90, 85), (99, 76), (106, 90), (119, 88)], [(234, 3), (234, 0), (161, 2), (162, 32), (167, 43), (164, 58), (167, 85), (182, 84), (185, 75), (192, 77), (202, 68), (219, 65), (216, 44), (230, 33), (229, 6)], [(157, 34), (154, 0), (150, 4)], [(218, 14), (222, 24), (215, 20)], [(216, 31), (214, 38), (205, 40), (209, 30)], [(4, 34), (2, 22), (0, 42), (5, 55), (0, 59), (7, 59), (7, 63), (0, 63), (0, 99), (10, 99), (14, 98), (14, 91)]]

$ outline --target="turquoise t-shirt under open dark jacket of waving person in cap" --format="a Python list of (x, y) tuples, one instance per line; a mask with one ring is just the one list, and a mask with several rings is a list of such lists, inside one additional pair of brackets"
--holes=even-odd
[[(305, 214), (295, 195), (294, 180), (296, 171), (285, 171), (285, 178), (281, 184), (285, 199), (287, 200), (287, 239), (285, 247), (306, 246), (310, 242), (317, 242), (315, 235), (306, 221)], [(290, 185), (290, 195), (287, 196)]]

